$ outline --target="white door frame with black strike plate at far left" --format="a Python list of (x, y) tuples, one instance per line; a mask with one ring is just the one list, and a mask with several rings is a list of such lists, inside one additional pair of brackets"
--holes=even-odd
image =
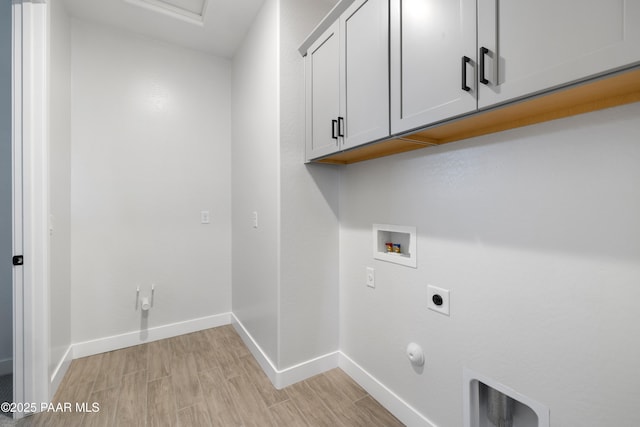
[(13, 270), (14, 402), (39, 410), (51, 398), (47, 2), (14, 0), (12, 24), (13, 253), (24, 256)]

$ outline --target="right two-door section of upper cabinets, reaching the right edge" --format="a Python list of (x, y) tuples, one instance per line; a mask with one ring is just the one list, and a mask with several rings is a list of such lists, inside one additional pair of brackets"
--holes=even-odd
[(638, 0), (391, 0), (391, 133), (634, 63)]

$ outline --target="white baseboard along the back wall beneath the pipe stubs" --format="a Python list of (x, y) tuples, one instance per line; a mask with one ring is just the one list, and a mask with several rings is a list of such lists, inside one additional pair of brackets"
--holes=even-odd
[(156, 326), (155, 328), (143, 331), (129, 332), (111, 337), (99, 338), (97, 340), (85, 341), (73, 344), (73, 358), (92, 356), (94, 354), (121, 348), (132, 347), (134, 345), (147, 342), (158, 341), (178, 335), (190, 334), (203, 329), (216, 328), (231, 323), (231, 313), (217, 314), (214, 316), (201, 317), (199, 319), (186, 320), (184, 322), (171, 323), (169, 325)]

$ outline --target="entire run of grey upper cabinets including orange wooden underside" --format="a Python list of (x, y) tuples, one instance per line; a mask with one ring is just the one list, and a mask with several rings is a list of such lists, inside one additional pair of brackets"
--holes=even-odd
[(636, 101), (640, 0), (341, 0), (299, 50), (306, 159), (352, 163)]

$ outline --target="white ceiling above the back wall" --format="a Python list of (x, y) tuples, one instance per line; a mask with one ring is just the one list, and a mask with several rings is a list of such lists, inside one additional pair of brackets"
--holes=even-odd
[[(71, 16), (100, 22), (180, 46), (232, 58), (264, 0), (207, 0), (202, 17), (180, 14), (169, 1), (198, 9), (194, 0), (65, 0)], [(199, 22), (200, 21), (200, 22)]]

